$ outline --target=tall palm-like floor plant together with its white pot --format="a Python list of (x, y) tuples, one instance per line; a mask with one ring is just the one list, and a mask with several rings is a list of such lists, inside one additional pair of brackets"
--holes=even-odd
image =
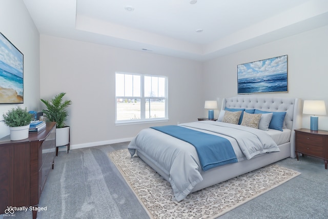
[(68, 118), (67, 107), (72, 104), (69, 100), (64, 100), (66, 93), (59, 93), (52, 99), (40, 99), (47, 109), (42, 110), (46, 116), (46, 121), (56, 122), (56, 147), (69, 144), (69, 126), (66, 126), (65, 121)]

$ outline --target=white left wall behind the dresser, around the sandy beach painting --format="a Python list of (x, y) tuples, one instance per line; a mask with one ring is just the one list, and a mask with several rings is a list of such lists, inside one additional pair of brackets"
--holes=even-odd
[[(0, 121), (9, 109), (39, 110), (39, 33), (21, 0), (0, 0), (0, 32), (24, 54), (24, 104), (0, 104)], [(0, 138), (9, 128), (0, 122)]]

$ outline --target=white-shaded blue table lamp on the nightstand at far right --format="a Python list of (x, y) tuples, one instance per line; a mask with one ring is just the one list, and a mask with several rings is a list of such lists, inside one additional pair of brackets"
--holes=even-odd
[(311, 130), (318, 131), (318, 116), (325, 115), (326, 107), (324, 101), (304, 101), (303, 114), (311, 114)]

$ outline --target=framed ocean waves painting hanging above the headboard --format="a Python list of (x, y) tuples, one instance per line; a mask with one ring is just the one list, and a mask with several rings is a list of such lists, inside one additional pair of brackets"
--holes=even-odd
[(288, 92), (287, 55), (237, 65), (238, 94)]

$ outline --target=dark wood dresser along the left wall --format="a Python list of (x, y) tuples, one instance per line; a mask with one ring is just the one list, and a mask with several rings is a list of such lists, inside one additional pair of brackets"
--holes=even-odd
[[(56, 123), (29, 133), (25, 140), (0, 139), (0, 214), (8, 207), (28, 207), (36, 218), (39, 198), (56, 151)], [(8, 210), (7, 210), (8, 211)]]

